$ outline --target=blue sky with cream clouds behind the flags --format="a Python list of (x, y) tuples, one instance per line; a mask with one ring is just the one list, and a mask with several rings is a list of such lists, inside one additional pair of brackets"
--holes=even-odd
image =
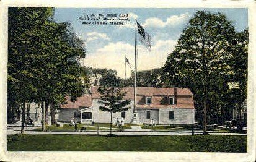
[[(152, 37), (152, 48), (148, 51), (138, 42), (138, 70), (149, 70), (164, 66), (167, 56), (177, 45), (182, 30), (198, 9), (80, 9), (56, 8), (55, 21), (69, 22), (76, 35), (84, 41), (87, 54), (81, 61), (83, 66), (117, 70), (124, 77), (125, 57), (132, 69), (127, 67), (128, 77), (134, 67), (135, 19)], [(213, 13), (221, 12), (231, 20), (237, 32), (248, 28), (247, 9), (200, 9)], [(79, 20), (83, 14), (128, 14), (125, 25), (83, 25)]]

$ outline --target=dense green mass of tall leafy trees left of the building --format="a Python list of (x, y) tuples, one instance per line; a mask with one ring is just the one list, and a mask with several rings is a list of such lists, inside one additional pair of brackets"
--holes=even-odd
[(79, 64), (84, 45), (68, 23), (54, 22), (53, 14), (46, 7), (9, 8), (8, 101), (10, 107), (23, 105), (22, 132), (26, 102), (41, 103), (45, 118), (51, 104), (54, 116), (64, 96), (76, 100), (87, 86)]

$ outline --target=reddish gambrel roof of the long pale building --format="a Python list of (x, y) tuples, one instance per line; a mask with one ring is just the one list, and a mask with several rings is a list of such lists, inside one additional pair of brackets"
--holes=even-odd
[[(125, 99), (133, 100), (133, 87), (126, 87)], [(194, 108), (193, 94), (188, 88), (177, 88), (177, 104), (168, 104), (168, 97), (174, 96), (174, 88), (137, 87), (138, 108)], [(146, 96), (152, 97), (152, 104), (146, 104)], [(100, 98), (97, 87), (92, 87), (91, 95), (84, 95), (77, 98), (74, 103), (67, 97), (68, 103), (61, 108), (79, 108), (92, 106), (92, 100)]]

